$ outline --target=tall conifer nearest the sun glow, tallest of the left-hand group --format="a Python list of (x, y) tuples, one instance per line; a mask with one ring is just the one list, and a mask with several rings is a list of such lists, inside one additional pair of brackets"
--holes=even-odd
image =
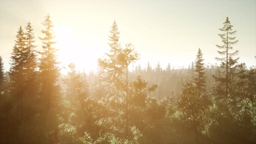
[(53, 94), (56, 90), (56, 81), (59, 76), (59, 62), (57, 62), (56, 52), (57, 49), (53, 47), (56, 43), (53, 39), (53, 23), (50, 20), (49, 14), (46, 16), (46, 20), (43, 22), (43, 26), (46, 27), (45, 30), (42, 30), (42, 33), (45, 35), (43, 38), (39, 38), (43, 43), (43, 52), (40, 52), (40, 77), (42, 85), (42, 96), (46, 98), (47, 107), (51, 105), (51, 101), (54, 100)]

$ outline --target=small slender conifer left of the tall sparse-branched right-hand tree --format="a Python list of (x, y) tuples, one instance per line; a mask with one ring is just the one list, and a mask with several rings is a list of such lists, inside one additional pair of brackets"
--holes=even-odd
[(196, 65), (195, 65), (195, 75), (193, 76), (193, 82), (196, 85), (197, 88), (197, 95), (201, 95), (202, 92), (205, 92), (205, 83), (206, 83), (206, 77), (204, 76), (204, 63), (203, 63), (203, 53), (201, 49), (198, 49), (197, 52), (197, 59), (196, 59)]

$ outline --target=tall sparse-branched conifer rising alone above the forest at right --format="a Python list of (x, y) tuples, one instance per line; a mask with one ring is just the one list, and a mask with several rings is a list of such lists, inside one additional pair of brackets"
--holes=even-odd
[[(222, 62), (221, 67), (225, 68), (225, 76), (223, 78), (217, 78), (214, 77), (217, 81), (220, 83), (223, 83), (225, 86), (225, 95), (226, 98), (228, 98), (229, 94), (229, 85), (230, 82), (232, 81), (232, 74), (233, 70), (235, 69), (236, 66), (234, 66), (237, 63), (237, 60), (239, 58), (233, 59), (233, 56), (236, 56), (238, 54), (238, 50), (235, 52), (231, 52), (233, 50), (233, 45), (238, 42), (238, 40), (235, 40), (236, 37), (232, 37), (232, 35), (236, 34), (236, 30), (233, 31), (233, 26), (231, 25), (229, 18), (226, 17), (226, 21), (223, 23), (223, 28), (220, 29), (220, 31), (225, 32), (223, 34), (218, 34), (220, 38), (222, 39), (223, 45), (219, 46), (216, 45), (217, 48), (219, 48), (221, 51), (218, 51), (220, 55), (223, 55), (225, 57), (223, 58), (215, 58), (218, 61)], [(222, 87), (222, 85), (220, 85)]]

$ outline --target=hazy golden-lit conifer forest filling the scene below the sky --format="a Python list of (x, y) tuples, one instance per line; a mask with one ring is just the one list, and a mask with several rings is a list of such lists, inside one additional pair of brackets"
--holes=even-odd
[(114, 21), (97, 71), (70, 63), (66, 74), (53, 21), (49, 14), (43, 20), (43, 51), (28, 22), (17, 26), (10, 69), (0, 57), (0, 144), (256, 143), (256, 67), (239, 61), (228, 17), (220, 23), (217, 64), (206, 65), (198, 48), (187, 68), (148, 62), (131, 69), (140, 54), (119, 42)]

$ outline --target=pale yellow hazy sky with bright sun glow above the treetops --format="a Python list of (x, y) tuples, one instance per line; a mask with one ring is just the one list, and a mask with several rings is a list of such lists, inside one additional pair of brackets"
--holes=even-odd
[[(42, 22), (49, 13), (55, 25), (61, 66), (95, 70), (110, 49), (108, 36), (116, 20), (121, 46), (132, 43), (140, 54), (136, 64), (165, 69), (187, 67), (200, 48), (205, 64), (216, 63), (218, 33), (226, 16), (237, 30), (239, 62), (256, 65), (256, 0), (0, 0), (0, 56), (6, 70), (16, 32), (30, 21), (36, 50), (42, 50)], [(63, 70), (62, 72), (64, 72)]]

